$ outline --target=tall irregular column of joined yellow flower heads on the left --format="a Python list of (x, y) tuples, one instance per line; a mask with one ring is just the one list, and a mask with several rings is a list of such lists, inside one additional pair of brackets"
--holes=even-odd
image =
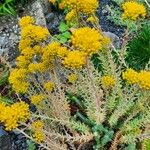
[(27, 75), (30, 72), (43, 71), (49, 66), (45, 62), (33, 62), (35, 56), (40, 58), (43, 54), (43, 47), (37, 43), (46, 40), (49, 36), (48, 29), (36, 26), (34, 22), (34, 19), (30, 16), (25, 16), (19, 21), (21, 55), (17, 58), (17, 69), (12, 70), (9, 77), (9, 82), (18, 93), (25, 93), (28, 90)]

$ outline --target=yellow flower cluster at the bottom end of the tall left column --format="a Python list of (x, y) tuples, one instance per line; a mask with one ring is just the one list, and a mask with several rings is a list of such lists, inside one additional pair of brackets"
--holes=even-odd
[(10, 72), (9, 82), (16, 92), (25, 93), (28, 90), (29, 83), (27, 82), (27, 74), (26, 69), (13, 69)]

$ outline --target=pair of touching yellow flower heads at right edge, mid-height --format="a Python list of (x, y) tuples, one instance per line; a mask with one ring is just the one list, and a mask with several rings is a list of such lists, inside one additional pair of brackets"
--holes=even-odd
[(139, 73), (133, 69), (127, 69), (123, 72), (123, 79), (129, 84), (137, 84), (140, 88), (150, 90), (150, 72), (140, 71)]

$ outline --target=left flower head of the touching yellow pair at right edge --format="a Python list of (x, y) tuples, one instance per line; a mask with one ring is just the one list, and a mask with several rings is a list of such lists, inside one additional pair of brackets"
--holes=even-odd
[(125, 72), (122, 73), (122, 77), (129, 84), (135, 84), (138, 82), (138, 73), (133, 69), (127, 69)]

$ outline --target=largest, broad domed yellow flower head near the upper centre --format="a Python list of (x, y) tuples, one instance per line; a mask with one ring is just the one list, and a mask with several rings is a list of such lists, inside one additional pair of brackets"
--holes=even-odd
[(109, 40), (98, 30), (83, 27), (72, 32), (71, 42), (74, 48), (90, 55), (97, 53), (106, 43), (108, 44)]

